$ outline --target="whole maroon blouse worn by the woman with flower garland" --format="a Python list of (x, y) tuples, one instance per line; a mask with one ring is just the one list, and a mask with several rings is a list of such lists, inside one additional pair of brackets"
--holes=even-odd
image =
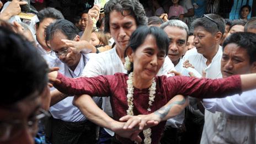
[[(54, 85), (62, 93), (89, 94), (107, 97), (110, 102), (114, 119), (126, 115), (127, 106), (127, 74), (116, 73), (113, 76), (98, 76), (92, 78), (67, 78), (58, 73), (57, 79), (61, 84)], [(190, 95), (196, 98), (220, 98), (225, 95), (241, 93), (240, 76), (225, 79), (198, 79), (184, 76), (156, 77), (156, 97), (151, 112), (160, 109), (177, 94)], [(134, 89), (134, 114), (148, 114), (148, 89)], [(152, 127), (152, 143), (159, 143), (166, 121)], [(143, 138), (143, 134), (140, 135)], [(134, 143), (126, 138), (118, 137), (121, 143)]]

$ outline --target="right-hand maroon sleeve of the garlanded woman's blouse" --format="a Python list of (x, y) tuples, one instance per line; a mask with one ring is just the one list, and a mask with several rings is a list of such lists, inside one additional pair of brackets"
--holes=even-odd
[(222, 98), (242, 93), (239, 75), (221, 79), (192, 78), (175, 76), (167, 78), (167, 92), (183, 94), (195, 98)]

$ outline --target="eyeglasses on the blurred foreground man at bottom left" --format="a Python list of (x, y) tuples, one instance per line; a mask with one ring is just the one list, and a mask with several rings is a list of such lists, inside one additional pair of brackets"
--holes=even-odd
[(39, 109), (39, 112), (40, 114), (36, 115), (33, 120), (27, 122), (22, 120), (0, 121), (0, 142), (10, 140), (10, 138), (19, 135), (24, 129), (24, 126), (28, 126), (29, 132), (34, 132), (37, 126), (36, 124), (38, 124), (40, 119), (51, 116), (44, 109)]

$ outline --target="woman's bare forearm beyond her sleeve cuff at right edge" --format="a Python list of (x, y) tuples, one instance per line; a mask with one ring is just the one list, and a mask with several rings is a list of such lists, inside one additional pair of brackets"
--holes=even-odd
[(256, 88), (256, 73), (241, 75), (241, 85), (242, 85), (243, 91), (255, 89)]

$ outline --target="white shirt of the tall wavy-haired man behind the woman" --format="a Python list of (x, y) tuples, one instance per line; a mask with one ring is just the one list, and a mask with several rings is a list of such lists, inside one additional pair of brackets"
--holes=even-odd
[[(160, 68), (157, 75), (167, 75), (167, 72), (172, 70), (175, 71), (174, 65), (172, 61), (170, 61), (169, 57), (166, 57), (163, 66)], [(113, 49), (101, 52), (98, 54), (97, 57), (92, 58), (84, 68), (83, 76), (93, 77), (99, 75), (113, 75), (117, 72), (127, 73), (120, 57), (116, 53), (116, 48), (114, 47)], [(103, 98), (102, 107), (106, 114), (108, 114), (109, 116), (113, 116), (110, 105), (110, 97)], [(114, 132), (111, 132), (108, 129), (105, 130), (111, 136), (114, 136)]]

